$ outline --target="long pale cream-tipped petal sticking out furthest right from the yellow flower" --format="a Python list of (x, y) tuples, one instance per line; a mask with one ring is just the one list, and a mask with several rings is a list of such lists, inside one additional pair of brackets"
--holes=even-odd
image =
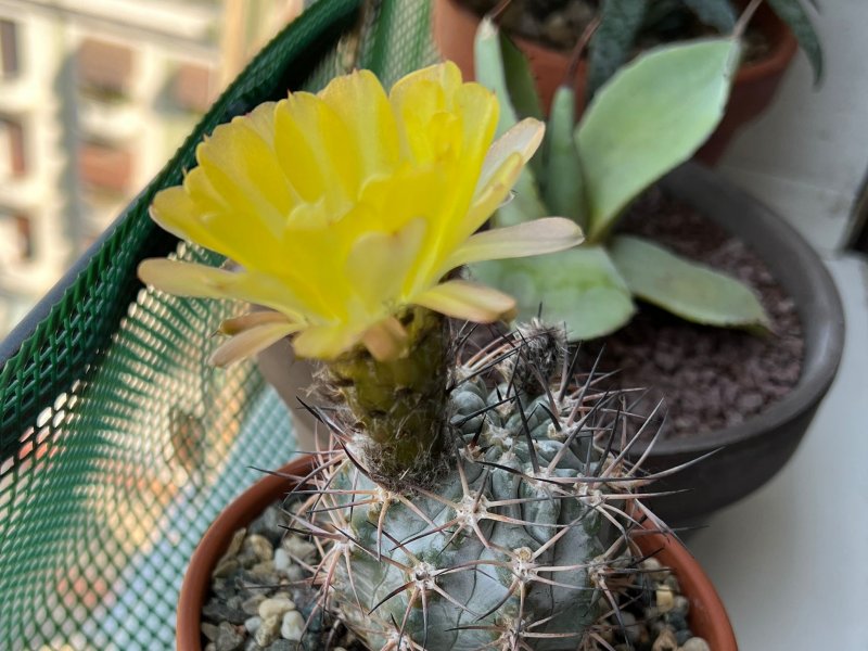
[(461, 265), (482, 260), (526, 257), (563, 251), (584, 240), (582, 229), (571, 219), (546, 217), (515, 226), (483, 231), (469, 238), (447, 259), (444, 275)]

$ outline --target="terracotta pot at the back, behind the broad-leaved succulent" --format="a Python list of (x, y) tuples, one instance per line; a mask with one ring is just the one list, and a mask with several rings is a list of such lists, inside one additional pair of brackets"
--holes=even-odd
[[(766, 4), (760, 7), (753, 23), (768, 39), (770, 54), (762, 61), (739, 68), (726, 115), (717, 130), (697, 153), (697, 157), (704, 163), (715, 163), (738, 129), (768, 106), (797, 49), (795, 37)], [(434, 42), (444, 59), (455, 61), (468, 79), (473, 78), (473, 37), (478, 24), (480, 17), (460, 0), (434, 1)], [(516, 38), (515, 42), (531, 61), (539, 97), (548, 111), (554, 91), (566, 76), (569, 54), (524, 38)], [(574, 85), (579, 114), (584, 103), (585, 71), (586, 66), (579, 66)]]

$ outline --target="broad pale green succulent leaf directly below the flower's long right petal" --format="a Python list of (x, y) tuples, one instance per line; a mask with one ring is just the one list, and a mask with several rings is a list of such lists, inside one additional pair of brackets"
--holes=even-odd
[(520, 321), (537, 316), (541, 305), (547, 322), (566, 323), (571, 341), (614, 332), (636, 310), (627, 284), (599, 246), (482, 263), (471, 272), (514, 296)]

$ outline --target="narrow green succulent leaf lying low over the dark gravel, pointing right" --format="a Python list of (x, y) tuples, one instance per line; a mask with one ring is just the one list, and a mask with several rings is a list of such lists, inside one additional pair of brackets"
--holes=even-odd
[(744, 283), (641, 238), (617, 235), (610, 253), (633, 294), (706, 326), (767, 330), (768, 316)]

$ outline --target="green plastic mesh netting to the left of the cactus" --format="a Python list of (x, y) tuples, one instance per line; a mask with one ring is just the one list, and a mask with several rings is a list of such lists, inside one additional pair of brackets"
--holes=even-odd
[(181, 579), (220, 509), (294, 449), (254, 363), (215, 370), (238, 305), (142, 288), (170, 252), (148, 218), (217, 124), (348, 67), (391, 84), (434, 60), (423, 0), (321, 0), (215, 103), (176, 156), (0, 347), (0, 648), (170, 649)]

